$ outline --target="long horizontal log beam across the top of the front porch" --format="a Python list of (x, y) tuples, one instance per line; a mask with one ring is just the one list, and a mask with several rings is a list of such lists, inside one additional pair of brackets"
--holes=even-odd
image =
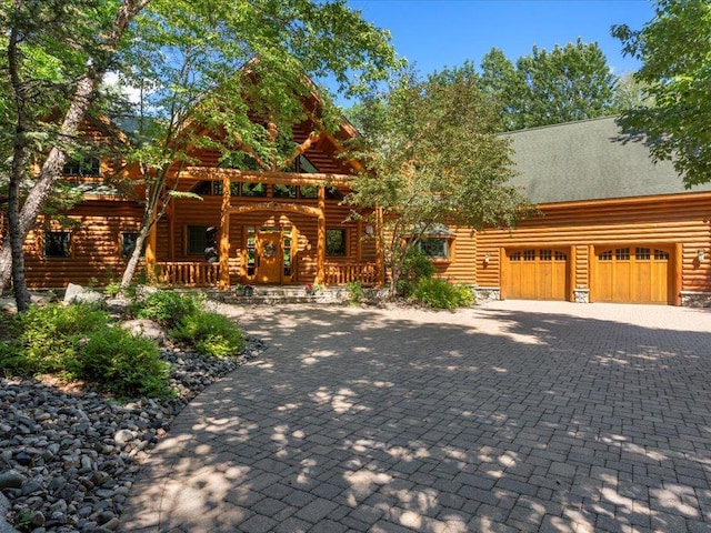
[(224, 181), (227, 179), (244, 183), (282, 183), (290, 185), (350, 185), (356, 179), (354, 175), (350, 174), (264, 172), (216, 167), (186, 167), (180, 171), (180, 177), (197, 180)]

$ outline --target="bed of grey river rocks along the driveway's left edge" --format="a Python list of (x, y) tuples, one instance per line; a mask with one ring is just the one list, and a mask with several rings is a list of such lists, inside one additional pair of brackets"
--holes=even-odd
[(232, 358), (162, 350), (178, 391), (167, 401), (119, 402), (81, 386), (0, 378), (0, 531), (116, 531), (141, 462), (176, 415), (263, 348), (250, 338)]

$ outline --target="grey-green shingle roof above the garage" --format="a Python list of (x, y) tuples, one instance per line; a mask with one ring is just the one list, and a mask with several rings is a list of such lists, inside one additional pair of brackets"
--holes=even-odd
[[(688, 192), (669, 161), (654, 164), (643, 135), (621, 132), (615, 118), (509, 133), (519, 172), (512, 183), (534, 203)], [(711, 183), (691, 191), (710, 191)]]

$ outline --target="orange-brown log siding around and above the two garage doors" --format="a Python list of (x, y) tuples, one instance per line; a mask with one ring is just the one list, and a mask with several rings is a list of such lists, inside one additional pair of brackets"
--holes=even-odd
[[(648, 244), (673, 252), (682, 243), (682, 289), (711, 291), (711, 195), (680, 194), (663, 200), (653, 198), (630, 202), (600, 202), (588, 205), (542, 207), (544, 217), (524, 220), (515, 230), (488, 229), (477, 235), (478, 284), (500, 284), (499, 252), (505, 248), (575, 249), (574, 284), (589, 289), (589, 245)], [(705, 250), (707, 260), (699, 262), (697, 251)], [(490, 253), (489, 268), (482, 268)]]

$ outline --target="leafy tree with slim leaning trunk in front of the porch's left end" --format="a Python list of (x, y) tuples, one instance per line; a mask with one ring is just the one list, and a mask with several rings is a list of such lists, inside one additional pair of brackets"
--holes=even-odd
[(316, 123), (307, 142), (338, 125), (328, 93), (312, 79), (331, 76), (353, 95), (399, 66), (388, 33), (341, 0), (153, 0), (138, 23), (140, 47), (123, 58), (122, 76), (149, 88), (129, 154), (142, 177), (144, 213), (122, 289), (178, 194), (181, 169), (193, 162), (190, 149), (219, 149), (224, 165), (243, 170), (288, 168), (303, 148), (291, 139), (293, 125)]

